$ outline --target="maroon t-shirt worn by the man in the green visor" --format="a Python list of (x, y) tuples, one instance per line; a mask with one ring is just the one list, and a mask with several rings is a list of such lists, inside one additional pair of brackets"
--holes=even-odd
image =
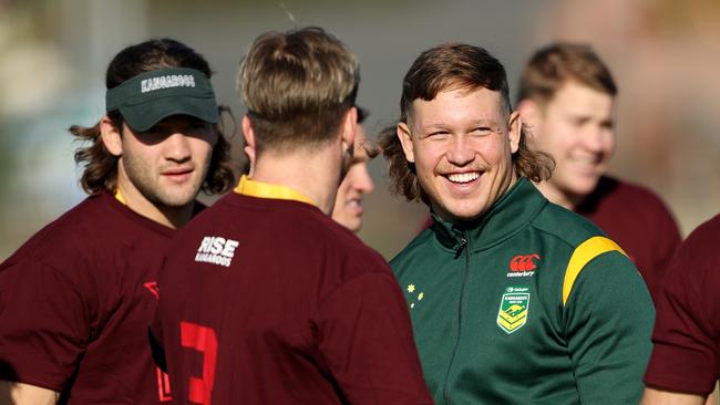
[(30, 238), (0, 264), (0, 378), (61, 403), (168, 402), (147, 325), (173, 235), (100, 194)]

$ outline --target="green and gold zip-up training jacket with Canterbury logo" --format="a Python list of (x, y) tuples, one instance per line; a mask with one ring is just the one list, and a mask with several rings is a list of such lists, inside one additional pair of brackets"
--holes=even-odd
[(525, 178), (391, 261), (438, 404), (637, 404), (655, 311), (623, 250)]

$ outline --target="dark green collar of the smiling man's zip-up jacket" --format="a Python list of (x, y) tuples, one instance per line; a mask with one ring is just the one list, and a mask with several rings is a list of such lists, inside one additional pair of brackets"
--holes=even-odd
[(525, 227), (547, 205), (547, 199), (525, 177), (521, 177), (477, 219), (449, 222), (431, 212), (432, 231), (443, 247), (460, 251), (465, 246), (482, 250)]

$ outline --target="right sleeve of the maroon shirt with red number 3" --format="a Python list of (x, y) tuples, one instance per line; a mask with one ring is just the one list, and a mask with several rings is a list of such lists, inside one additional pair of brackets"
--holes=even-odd
[(407, 303), (388, 272), (336, 289), (317, 314), (321, 361), (351, 404), (432, 404)]

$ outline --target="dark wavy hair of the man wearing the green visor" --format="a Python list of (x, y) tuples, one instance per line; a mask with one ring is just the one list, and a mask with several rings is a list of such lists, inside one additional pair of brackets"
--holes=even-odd
[[(105, 86), (112, 89), (141, 73), (164, 68), (195, 69), (208, 77), (213, 74), (203, 55), (178, 41), (164, 38), (131, 45), (117, 53), (107, 66)], [(229, 108), (220, 106), (219, 113), (227, 114)], [(232, 117), (232, 114), (229, 115)], [(107, 113), (107, 117), (122, 134), (124, 123), (122, 114), (112, 111)], [(117, 187), (119, 157), (105, 148), (100, 136), (100, 122), (91, 127), (73, 125), (69, 131), (76, 141), (90, 144), (78, 148), (74, 154), (75, 163), (83, 167), (80, 178), (82, 188), (91, 195), (102, 191), (113, 193)], [(222, 121), (217, 125), (217, 131), (218, 139), (213, 148), (208, 174), (202, 186), (202, 190), (206, 194), (225, 193), (235, 184), (235, 174), (230, 164), (230, 144)]]

